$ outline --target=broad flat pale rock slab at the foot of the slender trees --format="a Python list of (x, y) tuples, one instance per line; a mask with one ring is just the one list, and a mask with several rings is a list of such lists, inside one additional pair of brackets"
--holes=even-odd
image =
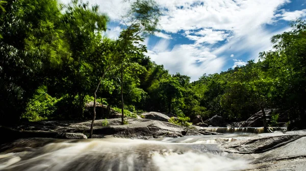
[[(185, 134), (186, 128), (169, 122), (151, 120), (147, 122), (112, 125), (93, 130), (95, 135), (111, 135), (117, 138), (149, 139), (161, 137), (180, 137)], [(103, 137), (103, 136), (102, 136)]]

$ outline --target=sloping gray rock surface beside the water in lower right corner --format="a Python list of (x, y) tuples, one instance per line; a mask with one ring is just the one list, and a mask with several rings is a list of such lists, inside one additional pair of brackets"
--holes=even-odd
[(251, 159), (252, 171), (306, 168), (306, 130), (263, 133), (220, 146), (227, 155)]

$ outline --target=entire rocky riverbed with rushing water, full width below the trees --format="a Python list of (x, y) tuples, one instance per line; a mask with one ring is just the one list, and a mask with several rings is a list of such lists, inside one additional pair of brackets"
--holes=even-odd
[[(90, 121), (46, 121), (0, 127), (6, 138), (0, 145), (0, 170), (304, 171), (306, 168), (306, 130), (222, 134), (212, 132), (220, 128), (187, 129), (150, 119), (127, 121), (130, 124), (119, 125), (120, 119), (109, 119), (109, 126), (103, 126), (105, 120), (97, 120), (94, 138), (99, 139), (93, 140), (77, 140), (87, 138)], [(62, 161), (63, 155), (66, 157)], [(168, 165), (166, 169), (167, 164), (177, 167)], [(93, 166), (86, 167), (89, 165)]]

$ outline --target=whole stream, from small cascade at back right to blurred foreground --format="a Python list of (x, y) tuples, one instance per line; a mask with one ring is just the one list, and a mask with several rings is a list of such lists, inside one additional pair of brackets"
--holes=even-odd
[(250, 129), (236, 129), (236, 133), (231, 128), (209, 129), (215, 132), (227, 129), (227, 134), (150, 140), (20, 139), (13, 148), (0, 153), (0, 170), (230, 171), (249, 168), (251, 160), (227, 156), (227, 153), (219, 150), (219, 146), (254, 138), (259, 134), (248, 133)]

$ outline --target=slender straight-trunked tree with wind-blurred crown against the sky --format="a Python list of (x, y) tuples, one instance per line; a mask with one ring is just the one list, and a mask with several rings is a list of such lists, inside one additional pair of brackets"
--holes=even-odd
[(159, 22), (160, 10), (153, 0), (137, 0), (131, 4), (129, 13), (125, 16), (123, 31), (121, 31), (118, 44), (121, 62), (121, 124), (123, 124), (123, 65), (129, 63), (130, 57), (146, 52), (146, 47), (140, 42), (155, 31)]

